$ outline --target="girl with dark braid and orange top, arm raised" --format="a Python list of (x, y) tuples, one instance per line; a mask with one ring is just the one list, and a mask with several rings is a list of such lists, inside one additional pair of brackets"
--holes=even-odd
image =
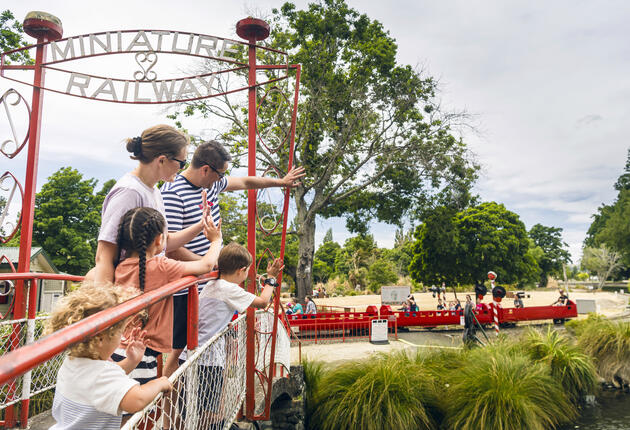
[[(118, 228), (118, 247), (126, 258), (118, 264), (114, 274), (116, 285), (131, 286), (146, 292), (188, 275), (203, 275), (214, 268), (221, 251), (221, 222), (215, 226), (211, 217), (204, 234), (212, 245), (208, 252), (195, 261), (179, 261), (162, 255), (164, 241), (164, 216), (153, 208), (141, 207), (128, 211)], [(129, 324), (125, 334), (140, 324)], [(148, 309), (144, 330), (146, 351), (142, 361), (130, 373), (138, 382), (146, 383), (157, 377), (157, 359), (160, 353), (170, 353), (173, 343), (173, 297), (168, 297)], [(125, 358), (125, 339), (114, 352), (112, 359)]]

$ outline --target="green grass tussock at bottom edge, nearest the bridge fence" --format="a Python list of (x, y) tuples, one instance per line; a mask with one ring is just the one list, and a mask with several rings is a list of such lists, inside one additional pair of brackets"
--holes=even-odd
[(342, 364), (320, 380), (314, 428), (435, 429), (433, 379), (402, 355)]

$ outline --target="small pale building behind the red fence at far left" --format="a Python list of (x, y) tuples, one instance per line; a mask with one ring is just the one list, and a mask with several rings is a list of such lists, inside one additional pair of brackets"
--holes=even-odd
[[(18, 257), (20, 255), (20, 248), (7, 246), (0, 247), (0, 279), (2, 273), (11, 273), (11, 265), (7, 262), (10, 261), (17, 269)], [(6, 257), (6, 258), (3, 258)], [(39, 273), (60, 273), (55, 267), (50, 256), (41, 247), (31, 248), (31, 272)], [(5, 293), (8, 290), (8, 286), (5, 282), (0, 281), (1, 288), (0, 293)], [(37, 281), (37, 312), (50, 312), (55, 302), (64, 295), (66, 282), (40, 279)], [(2, 315), (8, 310), (9, 305), (13, 301), (14, 292), (9, 294), (0, 295), (0, 313)]]

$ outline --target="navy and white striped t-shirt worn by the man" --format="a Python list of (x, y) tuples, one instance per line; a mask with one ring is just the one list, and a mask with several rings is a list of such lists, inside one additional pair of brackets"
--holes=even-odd
[[(221, 219), (219, 193), (223, 192), (226, 187), (227, 178), (221, 178), (212, 184), (212, 187), (206, 189), (208, 206), (210, 206), (210, 213), (215, 225)], [(202, 190), (202, 187), (191, 184), (182, 175), (177, 175), (173, 182), (166, 182), (162, 185), (160, 191), (164, 200), (168, 231), (180, 231), (199, 222), (203, 212), (201, 202)], [(202, 231), (184, 247), (197, 255), (205, 255), (210, 248), (210, 241), (204, 236)], [(202, 286), (200, 285), (199, 287), (201, 291)], [(186, 294), (188, 294), (188, 289), (175, 293), (174, 296)]]

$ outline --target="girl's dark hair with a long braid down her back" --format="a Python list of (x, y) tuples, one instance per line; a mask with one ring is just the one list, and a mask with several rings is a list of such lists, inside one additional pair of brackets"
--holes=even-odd
[(147, 264), (147, 247), (164, 233), (166, 220), (153, 208), (134, 208), (128, 211), (118, 227), (118, 248), (138, 253), (140, 291), (144, 291)]

